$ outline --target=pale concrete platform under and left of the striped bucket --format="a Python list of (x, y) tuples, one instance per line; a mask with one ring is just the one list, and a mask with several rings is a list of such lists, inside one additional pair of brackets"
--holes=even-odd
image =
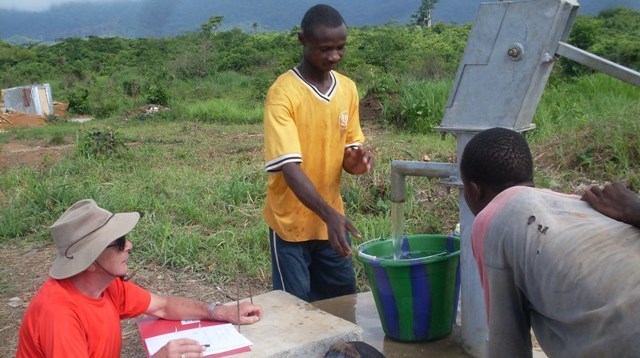
[[(253, 302), (262, 306), (262, 321), (240, 326), (240, 333), (253, 343), (251, 352), (232, 357), (322, 358), (332, 344), (346, 341), (364, 341), (387, 358), (471, 357), (460, 344), (458, 325), (449, 336), (432, 342), (406, 343), (386, 337), (371, 292), (307, 303), (289, 293), (271, 291), (253, 297)], [(533, 357), (546, 355), (534, 347)]]

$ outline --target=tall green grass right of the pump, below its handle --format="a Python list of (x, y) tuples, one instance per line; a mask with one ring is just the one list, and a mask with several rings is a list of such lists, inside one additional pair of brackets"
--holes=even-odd
[[(602, 74), (556, 83), (544, 93), (531, 139), (550, 153), (543, 180), (622, 181), (640, 190), (640, 89)], [(558, 178), (562, 176), (564, 178)]]

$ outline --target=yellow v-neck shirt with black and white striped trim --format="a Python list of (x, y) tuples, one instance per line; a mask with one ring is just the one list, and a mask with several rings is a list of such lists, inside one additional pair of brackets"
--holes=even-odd
[(348, 77), (331, 71), (332, 85), (321, 93), (297, 72), (282, 74), (267, 94), (264, 113), (265, 169), (270, 173), (263, 216), (283, 240), (327, 240), (327, 227), (302, 204), (281, 172), (300, 167), (322, 198), (344, 213), (340, 196), (344, 150), (364, 143), (358, 91)]

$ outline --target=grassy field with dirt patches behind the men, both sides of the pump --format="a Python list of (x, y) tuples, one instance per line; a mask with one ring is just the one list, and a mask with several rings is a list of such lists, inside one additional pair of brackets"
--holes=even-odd
[[(406, 89), (407, 101), (422, 101), (415, 95), (423, 91), (419, 86)], [(441, 101), (429, 98), (428, 106)], [(247, 287), (254, 294), (270, 288), (260, 110), (214, 107), (203, 100), (153, 115), (58, 120), (0, 133), (0, 299), (23, 302), (0, 307), (0, 356), (14, 354), (24, 307), (55, 256), (48, 227), (82, 198), (142, 214), (129, 238), (135, 246), (130, 269), (143, 287), (221, 301), (241, 290), (246, 297)], [(204, 117), (190, 117), (190, 110)], [(363, 236), (354, 246), (391, 234), (392, 160), (456, 158), (453, 136), (398, 131), (375, 119), (383, 118), (377, 110), (363, 122), (375, 169), (345, 174), (343, 181), (347, 216)], [(223, 124), (224, 118), (237, 122)], [(602, 75), (552, 83), (534, 123), (527, 138), (537, 186), (579, 193), (623, 181), (640, 189), (639, 89)], [(409, 177), (405, 220), (408, 234), (450, 233), (458, 222), (458, 190)], [(356, 270), (359, 289), (367, 290), (357, 262)], [(140, 356), (131, 320), (123, 323), (123, 337), (123, 356)]]

